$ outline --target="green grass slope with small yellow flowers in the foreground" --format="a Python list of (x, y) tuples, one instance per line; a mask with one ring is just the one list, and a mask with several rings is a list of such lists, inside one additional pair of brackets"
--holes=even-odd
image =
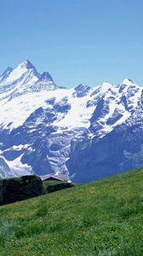
[(0, 207), (0, 255), (143, 255), (143, 169)]

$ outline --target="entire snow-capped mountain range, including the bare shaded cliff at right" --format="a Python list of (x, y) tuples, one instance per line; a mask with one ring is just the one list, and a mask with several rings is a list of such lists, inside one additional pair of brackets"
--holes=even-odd
[(142, 102), (130, 79), (60, 88), (23, 61), (0, 76), (0, 155), (12, 176), (68, 173), (78, 182), (143, 166)]

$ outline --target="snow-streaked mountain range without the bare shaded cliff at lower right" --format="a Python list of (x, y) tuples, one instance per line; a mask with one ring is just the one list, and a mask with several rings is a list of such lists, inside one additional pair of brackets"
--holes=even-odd
[(0, 155), (12, 175), (65, 174), (77, 141), (101, 139), (120, 125), (134, 124), (142, 95), (143, 88), (130, 79), (60, 88), (48, 72), (40, 74), (23, 61), (0, 76)]

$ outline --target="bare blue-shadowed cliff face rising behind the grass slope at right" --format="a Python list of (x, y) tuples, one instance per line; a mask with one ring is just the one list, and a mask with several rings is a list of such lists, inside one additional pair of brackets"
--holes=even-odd
[(143, 166), (142, 117), (134, 124), (129, 121), (105, 137), (77, 143), (67, 162), (72, 181), (90, 182)]

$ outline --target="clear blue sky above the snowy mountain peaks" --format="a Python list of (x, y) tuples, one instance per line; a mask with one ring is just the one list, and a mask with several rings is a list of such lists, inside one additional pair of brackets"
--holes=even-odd
[(0, 73), (29, 59), (56, 84), (143, 84), (142, 0), (0, 0)]

